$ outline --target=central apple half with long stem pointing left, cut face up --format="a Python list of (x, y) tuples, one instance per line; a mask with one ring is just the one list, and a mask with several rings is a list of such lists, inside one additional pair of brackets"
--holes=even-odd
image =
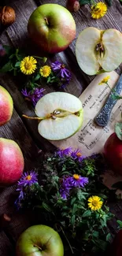
[(66, 92), (44, 95), (37, 102), (35, 113), (38, 117), (31, 119), (40, 121), (39, 134), (49, 140), (66, 139), (75, 134), (83, 123), (82, 102)]

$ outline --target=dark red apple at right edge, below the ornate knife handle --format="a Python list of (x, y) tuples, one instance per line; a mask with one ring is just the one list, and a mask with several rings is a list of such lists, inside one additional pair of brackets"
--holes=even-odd
[(111, 169), (122, 174), (122, 140), (117, 137), (116, 132), (113, 132), (106, 140), (104, 154)]

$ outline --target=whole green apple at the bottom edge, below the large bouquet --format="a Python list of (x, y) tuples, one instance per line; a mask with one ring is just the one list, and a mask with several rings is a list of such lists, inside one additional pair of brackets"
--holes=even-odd
[(26, 229), (17, 240), (16, 256), (63, 256), (59, 234), (43, 224)]

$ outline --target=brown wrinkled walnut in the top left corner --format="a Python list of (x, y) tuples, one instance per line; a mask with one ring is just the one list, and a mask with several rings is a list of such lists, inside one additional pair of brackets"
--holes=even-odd
[(10, 6), (0, 6), (0, 23), (4, 26), (9, 26), (15, 21), (16, 14)]

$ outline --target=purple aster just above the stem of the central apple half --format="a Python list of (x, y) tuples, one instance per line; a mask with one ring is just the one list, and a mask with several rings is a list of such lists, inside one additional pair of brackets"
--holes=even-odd
[(43, 91), (45, 91), (45, 89), (43, 88), (35, 88), (34, 91), (27, 91), (27, 89), (25, 88), (21, 91), (21, 93), (25, 97), (29, 98), (35, 106), (39, 99), (43, 97)]

